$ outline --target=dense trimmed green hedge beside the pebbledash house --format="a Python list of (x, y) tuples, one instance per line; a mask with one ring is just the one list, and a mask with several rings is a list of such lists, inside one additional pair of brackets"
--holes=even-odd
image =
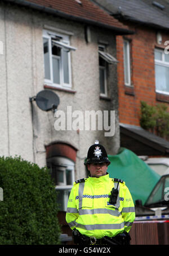
[(47, 167), (0, 157), (0, 244), (59, 244), (57, 194)]

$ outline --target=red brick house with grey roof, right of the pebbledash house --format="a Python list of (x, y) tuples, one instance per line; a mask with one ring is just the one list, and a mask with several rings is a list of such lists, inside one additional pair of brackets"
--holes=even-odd
[[(167, 144), (140, 127), (141, 101), (169, 107), (169, 26), (166, 1), (101, 1), (109, 15), (134, 31), (117, 36), (121, 146), (137, 155), (168, 155)], [(155, 2), (155, 3), (154, 3)], [(157, 145), (154, 144), (157, 142)]]

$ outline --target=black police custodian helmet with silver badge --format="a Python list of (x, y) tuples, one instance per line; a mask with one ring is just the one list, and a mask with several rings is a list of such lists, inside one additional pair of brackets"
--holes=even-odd
[(99, 140), (95, 140), (95, 144), (91, 145), (88, 149), (87, 160), (84, 165), (94, 162), (98, 164), (101, 162), (106, 162), (108, 165), (110, 164), (106, 150), (103, 145), (99, 144)]

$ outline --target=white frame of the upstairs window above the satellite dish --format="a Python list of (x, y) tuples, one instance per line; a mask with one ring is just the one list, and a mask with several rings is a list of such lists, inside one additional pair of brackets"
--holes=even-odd
[[(54, 37), (61, 37), (61, 42), (57, 42), (57, 46), (61, 48), (61, 56), (57, 57), (52, 55), (52, 47), (51, 43), (54, 41)], [(69, 36), (65, 34), (60, 34), (57, 32), (50, 32), (49, 30), (43, 30), (43, 38), (48, 39), (48, 49), (49, 49), (49, 56), (50, 56), (50, 80), (45, 78), (46, 85), (52, 85), (54, 87), (63, 88), (66, 87), (68, 89), (72, 88), (72, 70), (71, 70), (71, 60), (70, 60), (70, 51), (76, 50), (75, 47), (70, 46)], [(64, 82), (64, 67), (63, 67), (63, 56), (62, 52), (66, 50), (68, 51), (68, 70), (69, 70), (69, 83)], [(53, 67), (52, 67), (52, 58), (60, 58), (60, 83), (54, 83), (54, 76), (53, 76)], [(45, 68), (45, 63), (44, 63)]]

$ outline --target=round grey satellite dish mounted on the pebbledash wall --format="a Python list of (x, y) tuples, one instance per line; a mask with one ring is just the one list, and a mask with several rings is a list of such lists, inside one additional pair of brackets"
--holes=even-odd
[(30, 98), (30, 101), (35, 100), (38, 107), (43, 111), (56, 111), (60, 99), (55, 92), (50, 90), (39, 91), (37, 96)]

